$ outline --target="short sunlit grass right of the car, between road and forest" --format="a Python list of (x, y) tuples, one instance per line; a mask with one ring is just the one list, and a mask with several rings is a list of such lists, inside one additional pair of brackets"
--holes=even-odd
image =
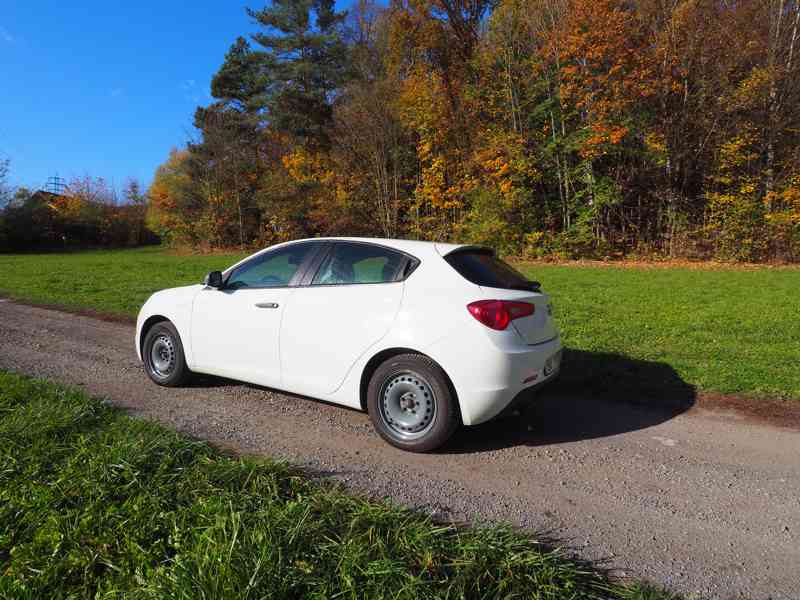
[[(584, 357), (660, 363), (702, 390), (800, 399), (800, 269), (523, 270), (552, 295), (564, 342)], [(608, 379), (632, 380), (616, 362)]]

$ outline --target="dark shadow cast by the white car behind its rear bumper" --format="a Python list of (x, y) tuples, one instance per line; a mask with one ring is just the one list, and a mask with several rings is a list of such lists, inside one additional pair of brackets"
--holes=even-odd
[(485, 452), (618, 435), (686, 412), (695, 388), (661, 362), (565, 349), (559, 379), (517, 413), (459, 430), (444, 452)]

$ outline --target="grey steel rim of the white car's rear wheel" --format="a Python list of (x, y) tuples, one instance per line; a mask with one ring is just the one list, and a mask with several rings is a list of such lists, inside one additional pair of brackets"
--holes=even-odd
[(396, 373), (381, 387), (381, 420), (402, 440), (415, 440), (430, 431), (436, 421), (436, 404), (433, 388), (418, 373)]

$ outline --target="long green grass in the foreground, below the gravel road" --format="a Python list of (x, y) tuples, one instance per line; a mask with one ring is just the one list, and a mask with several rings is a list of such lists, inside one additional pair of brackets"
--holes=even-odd
[(669, 598), (0, 372), (0, 598)]

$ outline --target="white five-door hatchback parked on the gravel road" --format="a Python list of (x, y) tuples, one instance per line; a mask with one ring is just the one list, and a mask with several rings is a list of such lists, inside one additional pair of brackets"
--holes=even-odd
[(559, 371), (549, 297), (488, 248), (315, 238), (163, 290), (136, 322), (150, 378), (208, 373), (366, 410), (430, 451)]

